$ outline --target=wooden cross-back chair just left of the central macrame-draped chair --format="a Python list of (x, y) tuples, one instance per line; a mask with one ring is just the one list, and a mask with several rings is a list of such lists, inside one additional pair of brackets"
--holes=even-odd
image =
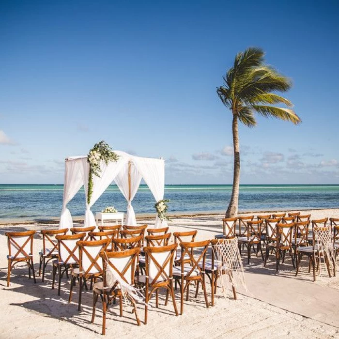
[(190, 264), (188, 265), (185, 263), (185, 260), (181, 260), (180, 267), (173, 267), (173, 277), (180, 285), (180, 314), (184, 313), (184, 294), (186, 292), (187, 301), (189, 295), (189, 286), (192, 282), (196, 283), (195, 298), (198, 296), (199, 284), (201, 284), (206, 307), (209, 307), (205, 283), (205, 262), (207, 248), (209, 245), (210, 240), (180, 243), (181, 258), (185, 258), (185, 255), (187, 255), (190, 261)]

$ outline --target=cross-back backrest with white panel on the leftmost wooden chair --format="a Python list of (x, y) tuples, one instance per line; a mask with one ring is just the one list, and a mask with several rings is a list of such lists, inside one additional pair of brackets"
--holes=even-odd
[(8, 254), (11, 260), (30, 259), (33, 254), (35, 231), (6, 232)]

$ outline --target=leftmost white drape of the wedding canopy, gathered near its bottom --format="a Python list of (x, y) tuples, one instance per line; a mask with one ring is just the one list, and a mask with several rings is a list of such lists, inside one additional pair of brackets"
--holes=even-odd
[(66, 207), (67, 203), (73, 199), (77, 191), (83, 185), (83, 179), (79, 168), (79, 161), (70, 160), (65, 162), (65, 176), (63, 185), (63, 203), (60, 216), (59, 229), (72, 228), (73, 220), (71, 212)]

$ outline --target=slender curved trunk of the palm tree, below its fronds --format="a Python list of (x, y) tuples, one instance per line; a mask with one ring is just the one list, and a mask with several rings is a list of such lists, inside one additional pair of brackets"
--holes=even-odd
[(233, 167), (233, 188), (229, 207), (226, 211), (226, 218), (232, 218), (238, 215), (239, 201), (239, 183), (240, 183), (240, 152), (239, 152), (239, 131), (238, 116), (233, 113), (232, 122), (233, 149), (234, 149), (234, 167)]

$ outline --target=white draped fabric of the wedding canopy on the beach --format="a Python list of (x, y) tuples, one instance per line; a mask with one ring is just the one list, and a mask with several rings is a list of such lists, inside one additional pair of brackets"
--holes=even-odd
[[(156, 201), (164, 199), (165, 161), (163, 159), (141, 158), (121, 151), (114, 152), (119, 155), (119, 159), (109, 162), (108, 165), (106, 165), (104, 161), (101, 161), (100, 177), (92, 176), (93, 191), (89, 203), (87, 201), (89, 181), (89, 163), (87, 156), (69, 157), (65, 160), (60, 229), (71, 228), (73, 226), (72, 216), (66, 205), (73, 199), (82, 185), (85, 188), (86, 198), (85, 227), (96, 225), (91, 206), (113, 181), (127, 200), (126, 225), (137, 225), (132, 200), (138, 191), (141, 179), (144, 179)], [(167, 226), (167, 222), (166, 220), (160, 220), (160, 218), (156, 216), (154, 227), (160, 226)]]

